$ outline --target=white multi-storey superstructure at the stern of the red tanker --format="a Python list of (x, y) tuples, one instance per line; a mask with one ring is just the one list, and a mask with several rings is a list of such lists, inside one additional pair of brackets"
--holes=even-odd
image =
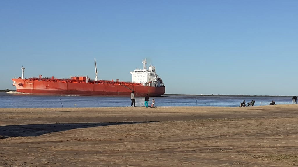
[(162, 79), (156, 74), (155, 67), (151, 64), (149, 65), (149, 69), (146, 67), (146, 59), (142, 61), (143, 69), (136, 69), (131, 73), (132, 82), (142, 83), (144, 86), (153, 86), (160, 87), (164, 86)]

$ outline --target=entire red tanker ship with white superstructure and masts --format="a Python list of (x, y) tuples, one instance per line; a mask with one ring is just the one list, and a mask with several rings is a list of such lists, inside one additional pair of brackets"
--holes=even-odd
[[(95, 60), (95, 59), (94, 59)], [(95, 60), (95, 80), (88, 76), (71, 76), (70, 78), (39, 77), (13, 78), (13, 86), (17, 92), (30, 94), (69, 94), (69, 95), (130, 95), (134, 91), (136, 96), (161, 96), (165, 93), (162, 79), (156, 74), (155, 67), (146, 67), (146, 59), (142, 61), (143, 69), (131, 72), (132, 82), (98, 80)]]

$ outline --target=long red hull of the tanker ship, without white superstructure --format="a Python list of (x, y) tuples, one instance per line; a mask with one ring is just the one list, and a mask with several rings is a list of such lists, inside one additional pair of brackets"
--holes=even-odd
[[(90, 81), (89, 83), (69, 82), (68, 79), (50, 81), (12, 79), (17, 92), (30, 94), (69, 94), (69, 95), (130, 95), (132, 90), (136, 96), (161, 96), (165, 93), (165, 86), (143, 86), (138, 83), (114, 81)], [(57, 81), (58, 80), (58, 81)]]

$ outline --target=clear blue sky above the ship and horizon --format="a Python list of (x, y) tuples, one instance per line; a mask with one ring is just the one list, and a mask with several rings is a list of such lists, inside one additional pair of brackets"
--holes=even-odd
[(298, 95), (298, 1), (0, 1), (0, 90), (11, 78), (131, 81), (142, 59), (170, 94)]

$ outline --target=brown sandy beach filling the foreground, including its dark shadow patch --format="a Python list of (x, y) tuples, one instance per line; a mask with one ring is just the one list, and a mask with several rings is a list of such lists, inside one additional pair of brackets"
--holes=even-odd
[(297, 109), (0, 108), (0, 166), (298, 166)]

